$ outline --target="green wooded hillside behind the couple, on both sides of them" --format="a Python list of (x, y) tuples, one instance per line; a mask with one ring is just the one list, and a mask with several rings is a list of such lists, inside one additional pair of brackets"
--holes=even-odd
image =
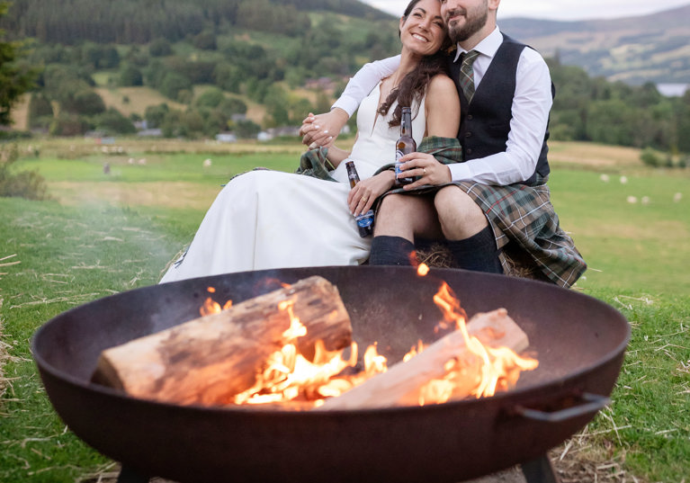
[[(23, 61), (40, 76), (22, 129), (57, 136), (146, 121), (167, 137), (255, 137), (326, 111), (364, 62), (399, 52), (396, 19), (352, 0), (24, 0), (0, 23), (35, 38)], [(690, 94), (548, 61), (552, 139), (690, 153)]]

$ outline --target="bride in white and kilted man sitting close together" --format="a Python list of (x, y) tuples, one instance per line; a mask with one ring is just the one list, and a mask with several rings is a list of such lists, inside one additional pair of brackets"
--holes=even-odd
[[(305, 144), (321, 148), (300, 166), (311, 159), (320, 168), (321, 158), (334, 169), (320, 177), (268, 170), (234, 177), (161, 282), (412, 264), (416, 241), (444, 240), (458, 268), (506, 273), (509, 252), (538, 278), (575, 283), (587, 265), (560, 228), (546, 185), (551, 76), (536, 51), (498, 30), (498, 4), (412, 0), (399, 22), (400, 55), (364, 66), (331, 112), (309, 116), (301, 128)], [(331, 146), (357, 106), (352, 151)], [(389, 167), (405, 106), (417, 152), (402, 158), (399, 177), (417, 181), (399, 188)], [(346, 161), (362, 180), (352, 189)], [(360, 237), (354, 215), (372, 208), (373, 237)]]

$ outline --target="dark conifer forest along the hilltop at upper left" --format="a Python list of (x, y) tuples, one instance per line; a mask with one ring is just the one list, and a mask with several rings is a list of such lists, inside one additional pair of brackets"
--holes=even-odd
[(232, 27), (299, 35), (311, 27), (308, 12), (391, 18), (356, 0), (21, 0), (0, 27), (40, 42), (141, 44)]

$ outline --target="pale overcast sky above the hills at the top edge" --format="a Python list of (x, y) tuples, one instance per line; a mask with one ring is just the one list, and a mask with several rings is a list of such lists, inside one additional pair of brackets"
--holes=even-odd
[[(362, 0), (376, 8), (401, 15), (408, 0)], [(549, 20), (592, 20), (657, 13), (690, 4), (690, 0), (503, 0), (498, 21), (508, 17)]]

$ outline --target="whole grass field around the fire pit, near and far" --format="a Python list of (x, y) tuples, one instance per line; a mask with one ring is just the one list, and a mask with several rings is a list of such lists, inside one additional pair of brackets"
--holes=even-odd
[[(0, 481), (96, 481), (113, 469), (55, 416), (31, 335), (86, 301), (155, 284), (222, 183), (255, 165), (292, 170), (300, 150), (22, 145), (19, 167), (38, 169), (54, 199), (0, 198)], [(564, 481), (690, 481), (690, 174), (647, 169), (628, 149), (554, 143), (551, 158), (552, 201), (590, 266), (574, 290), (632, 326), (614, 403), (551, 456)]]

